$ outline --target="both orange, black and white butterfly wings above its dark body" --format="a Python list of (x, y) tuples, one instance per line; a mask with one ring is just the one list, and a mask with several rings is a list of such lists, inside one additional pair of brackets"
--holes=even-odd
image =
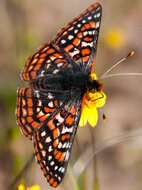
[[(70, 67), (66, 52), (76, 63), (83, 61), (94, 67), (94, 58), (101, 22), (102, 8), (95, 3), (63, 28), (53, 42), (41, 46), (26, 62), (21, 74), (26, 81), (46, 74), (56, 74)], [(56, 48), (57, 47), (57, 48)], [(89, 61), (91, 59), (91, 61)], [(92, 65), (92, 67), (91, 67)]]

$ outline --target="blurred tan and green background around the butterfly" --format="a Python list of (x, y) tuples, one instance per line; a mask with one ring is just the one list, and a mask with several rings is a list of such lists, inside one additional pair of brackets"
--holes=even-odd
[[(18, 189), (20, 183), (38, 184), (41, 190), (52, 189), (35, 160), (15, 186), (9, 188), (33, 154), (32, 143), (21, 135), (16, 125), (16, 90), (27, 85), (19, 74), (28, 56), (54, 39), (62, 27), (94, 2), (0, 1), (0, 189)], [(135, 55), (112, 72), (142, 72), (142, 1), (98, 2), (103, 7), (103, 17), (95, 73), (100, 76), (131, 50), (135, 50)], [(142, 77), (113, 77), (103, 80), (103, 84), (107, 103), (99, 113), (99, 123), (96, 128), (78, 129), (70, 160), (73, 167), (83, 154), (86, 170), (74, 180), (69, 169), (57, 189), (142, 189)], [(108, 118), (107, 123), (102, 119), (102, 112)], [(111, 139), (116, 141), (113, 146)], [(93, 144), (103, 150), (87, 164), (96, 148), (89, 154), (86, 151)]]

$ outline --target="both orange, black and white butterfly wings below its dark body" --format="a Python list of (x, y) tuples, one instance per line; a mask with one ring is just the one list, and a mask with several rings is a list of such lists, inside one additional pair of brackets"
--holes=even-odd
[(53, 187), (66, 172), (80, 118), (79, 97), (32, 88), (18, 90), (17, 122), (23, 134), (33, 139), (38, 163)]

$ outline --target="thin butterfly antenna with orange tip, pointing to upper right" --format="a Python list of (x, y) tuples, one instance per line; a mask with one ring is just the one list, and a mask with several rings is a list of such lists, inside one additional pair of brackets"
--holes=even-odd
[(132, 57), (135, 54), (134, 51), (131, 51), (126, 57), (120, 59), (117, 63), (115, 63), (112, 67), (110, 67), (103, 75), (101, 75), (100, 79), (103, 79), (109, 72), (111, 72), (115, 67), (117, 67), (120, 63), (126, 61), (128, 58)]

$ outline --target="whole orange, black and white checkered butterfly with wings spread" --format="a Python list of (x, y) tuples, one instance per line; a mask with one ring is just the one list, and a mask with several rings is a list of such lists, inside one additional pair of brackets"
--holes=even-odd
[(29, 57), (21, 74), (29, 87), (18, 89), (17, 123), (52, 187), (65, 175), (84, 94), (100, 87), (90, 74), (101, 15), (101, 5), (91, 5)]

